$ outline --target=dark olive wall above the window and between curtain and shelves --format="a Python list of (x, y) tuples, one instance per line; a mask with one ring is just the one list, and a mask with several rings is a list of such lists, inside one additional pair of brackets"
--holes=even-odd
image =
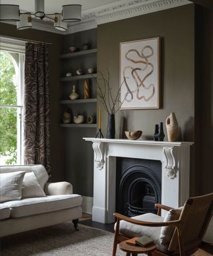
[(59, 97), (61, 88), (59, 75), (61, 63), (59, 54), (63, 51), (63, 35), (27, 29), (18, 31), (16, 26), (0, 23), (0, 36), (17, 37), (19, 39), (30, 39), (52, 43), (49, 45), (49, 85), (50, 85), (50, 107), (51, 107), (51, 165), (53, 170), (53, 181), (64, 179), (63, 168), (63, 139), (59, 128)]

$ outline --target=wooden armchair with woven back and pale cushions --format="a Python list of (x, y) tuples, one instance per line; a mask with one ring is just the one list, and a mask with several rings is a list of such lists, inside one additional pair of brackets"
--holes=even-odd
[[(192, 197), (178, 209), (160, 204), (156, 207), (157, 215), (146, 213), (130, 218), (114, 213), (116, 228), (112, 256), (116, 255), (118, 243), (142, 235), (154, 240), (154, 256), (192, 255), (198, 250), (212, 217), (213, 193)], [(165, 218), (160, 217), (161, 209), (168, 211)]]

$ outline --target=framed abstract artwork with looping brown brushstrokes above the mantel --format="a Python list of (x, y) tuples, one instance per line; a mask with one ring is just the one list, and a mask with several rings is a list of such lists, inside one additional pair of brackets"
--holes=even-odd
[(160, 106), (160, 38), (120, 43), (120, 109)]

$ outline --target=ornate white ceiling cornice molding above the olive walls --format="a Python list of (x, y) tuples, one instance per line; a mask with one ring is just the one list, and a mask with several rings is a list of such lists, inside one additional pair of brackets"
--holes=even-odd
[(188, 0), (121, 0), (109, 5), (83, 11), (82, 20), (78, 23), (71, 23), (67, 32), (54, 29), (53, 23), (49, 21), (37, 21), (37, 19), (33, 19), (33, 29), (67, 35), (88, 29), (95, 29), (97, 25), (103, 23), (128, 19), (130, 17), (188, 4), (192, 4), (192, 2)]

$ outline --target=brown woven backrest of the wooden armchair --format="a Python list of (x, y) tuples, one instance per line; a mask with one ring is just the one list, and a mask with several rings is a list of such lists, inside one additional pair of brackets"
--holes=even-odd
[[(184, 204), (180, 215), (180, 235), (184, 251), (192, 251), (200, 245), (213, 213), (213, 193), (191, 197)], [(178, 247), (177, 231), (174, 231), (168, 251)]]

